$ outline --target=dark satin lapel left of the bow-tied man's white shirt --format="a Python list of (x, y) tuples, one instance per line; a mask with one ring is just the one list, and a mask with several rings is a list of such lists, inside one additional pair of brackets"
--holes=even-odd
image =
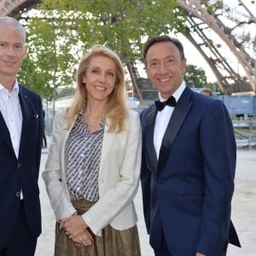
[(147, 148), (148, 158), (152, 160), (154, 164), (154, 170), (157, 167), (157, 158), (154, 150), (154, 123), (156, 118), (157, 110), (152, 108), (148, 113), (147, 124), (145, 126), (145, 135), (143, 136), (145, 148)]

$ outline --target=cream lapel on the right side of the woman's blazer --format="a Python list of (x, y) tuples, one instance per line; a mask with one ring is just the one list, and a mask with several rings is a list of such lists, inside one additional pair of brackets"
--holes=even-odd
[[(108, 124), (108, 120), (106, 123)], [(99, 175), (103, 170), (103, 166), (106, 160), (108, 160), (108, 153), (111, 152), (113, 139), (115, 137), (114, 132), (108, 132), (107, 130), (108, 130), (108, 125), (105, 125), (105, 131), (104, 131), (104, 136), (102, 141), (102, 155), (101, 155), (101, 161), (100, 161)]]

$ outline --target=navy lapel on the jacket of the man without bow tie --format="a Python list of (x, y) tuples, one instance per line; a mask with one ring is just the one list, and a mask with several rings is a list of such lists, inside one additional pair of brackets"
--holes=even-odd
[(29, 122), (27, 122), (26, 120), (29, 118), (32, 118), (32, 117), (29, 117), (28, 113), (27, 113), (28, 96), (26, 96), (26, 94), (22, 90), (22, 87), (20, 87), (19, 100), (20, 100), (20, 108), (21, 108), (21, 113), (22, 113), (22, 128), (21, 128), (20, 149), (19, 149), (19, 155), (20, 155), (20, 152), (23, 152), (23, 150), (26, 150), (26, 148), (24, 148), (25, 142), (26, 142), (26, 137), (28, 136), (26, 131), (29, 131), (27, 129), (27, 124)]

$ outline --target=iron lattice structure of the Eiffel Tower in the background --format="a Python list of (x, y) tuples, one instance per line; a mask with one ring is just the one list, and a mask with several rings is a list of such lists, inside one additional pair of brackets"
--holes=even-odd
[[(20, 19), (40, 0), (1, 0), (0, 16)], [(188, 17), (185, 37), (201, 53), (226, 95), (256, 94), (256, 18), (241, 0), (212, 0), (219, 8), (207, 9), (203, 1), (177, 0)], [(133, 80), (137, 67), (133, 65)], [(142, 95), (136, 86), (137, 95)], [(143, 99), (140, 99), (143, 100)]]

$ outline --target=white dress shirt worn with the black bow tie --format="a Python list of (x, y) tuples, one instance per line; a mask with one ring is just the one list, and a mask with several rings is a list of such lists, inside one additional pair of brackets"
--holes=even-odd
[[(185, 89), (186, 84), (183, 83), (177, 88), (177, 90), (173, 93), (172, 96), (175, 97), (176, 102), (178, 101), (179, 97), (183, 94), (183, 90)], [(160, 102), (164, 102), (167, 99), (163, 99), (159, 93)], [(172, 112), (174, 108), (170, 106), (166, 106), (162, 111), (158, 111), (155, 123), (154, 123), (154, 149), (156, 153), (157, 159), (159, 159), (160, 147), (162, 144), (163, 137), (166, 133), (167, 125), (171, 119)]]

